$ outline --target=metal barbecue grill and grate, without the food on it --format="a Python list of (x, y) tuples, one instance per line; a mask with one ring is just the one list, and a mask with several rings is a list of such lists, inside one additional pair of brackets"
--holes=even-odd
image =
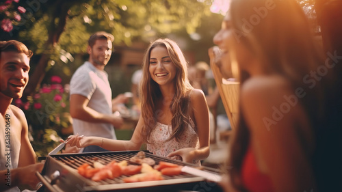
[[(90, 153), (81, 153), (81, 154), (53, 154), (47, 157), (47, 162), (44, 165), (44, 169), (42, 172), (42, 177), (51, 182), (51, 175), (54, 172), (60, 172), (60, 176), (57, 178), (57, 182), (53, 182), (50, 187), (50, 191), (111, 191), (114, 190), (128, 190), (132, 191), (135, 189), (136, 191), (142, 191), (142, 188), (148, 190), (153, 187), (157, 187), (156, 191), (162, 189), (161, 186), (164, 186), (163, 189), (168, 187), (177, 187), (181, 185), (189, 185), (192, 186), (195, 182), (201, 182), (204, 178), (194, 176), (192, 174), (182, 173), (177, 176), (163, 176), (164, 180), (155, 182), (135, 182), (135, 183), (125, 183), (122, 179), (127, 178), (129, 176), (122, 175), (114, 179), (105, 179), (95, 182), (91, 179), (84, 178), (79, 175), (77, 172), (77, 168), (83, 163), (88, 163), (90, 166), (93, 166), (95, 161), (102, 163), (103, 165), (107, 165), (109, 162), (115, 160), (116, 162), (120, 161), (128, 161), (129, 164), (134, 164), (129, 161), (131, 157), (135, 156), (139, 151), (124, 151), (124, 152), (90, 152)], [(151, 154), (148, 151), (144, 151), (146, 157), (150, 157), (155, 160), (156, 164), (159, 164), (159, 161), (166, 161), (168, 163), (174, 163), (177, 165), (187, 165), (189, 167), (194, 167), (193, 164), (184, 163), (182, 161), (175, 161), (172, 159), (168, 159), (161, 156), (156, 156)], [(205, 167), (205, 171), (211, 173), (218, 173), (217, 169), (213, 169), (211, 167)], [(54, 186), (54, 187), (53, 187)], [(158, 187), (159, 186), (159, 187)], [(81, 187), (81, 189), (79, 189)], [(147, 188), (146, 188), (147, 187)], [(54, 190), (54, 189), (58, 190)], [(158, 189), (159, 188), (159, 189)], [(164, 191), (164, 190), (163, 190)]]

